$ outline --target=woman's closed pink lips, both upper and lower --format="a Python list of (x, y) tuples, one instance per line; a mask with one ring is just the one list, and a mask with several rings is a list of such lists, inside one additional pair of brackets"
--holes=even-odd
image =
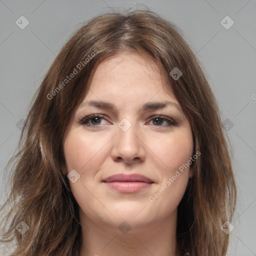
[(150, 178), (140, 174), (115, 174), (102, 180), (110, 188), (123, 193), (132, 193), (154, 183)]

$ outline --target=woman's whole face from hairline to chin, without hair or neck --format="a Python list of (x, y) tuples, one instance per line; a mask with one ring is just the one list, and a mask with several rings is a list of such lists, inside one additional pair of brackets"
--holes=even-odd
[[(63, 140), (66, 173), (72, 170), (69, 183), (84, 223), (118, 232), (123, 221), (135, 230), (176, 217), (191, 176), (193, 139), (164, 83), (155, 63), (135, 53), (98, 65)], [(110, 177), (116, 174), (122, 175)]]

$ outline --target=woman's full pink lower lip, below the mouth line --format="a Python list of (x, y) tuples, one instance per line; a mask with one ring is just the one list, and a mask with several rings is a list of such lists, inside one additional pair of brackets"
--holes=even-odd
[(119, 192), (123, 193), (132, 193), (137, 192), (143, 188), (149, 187), (152, 183), (147, 182), (121, 182), (121, 181), (113, 181), (113, 182), (105, 182), (110, 188), (115, 189)]

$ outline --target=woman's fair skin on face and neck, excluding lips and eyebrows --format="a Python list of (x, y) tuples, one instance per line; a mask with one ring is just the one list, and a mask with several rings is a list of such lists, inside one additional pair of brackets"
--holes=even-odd
[[(149, 196), (192, 156), (191, 127), (174, 106), (141, 110), (148, 101), (166, 100), (180, 109), (170, 86), (164, 87), (167, 82), (148, 56), (121, 53), (98, 65), (83, 99), (108, 101), (116, 110), (82, 103), (74, 111), (63, 148), (66, 173), (75, 169), (80, 175), (74, 183), (69, 181), (80, 207), (80, 256), (176, 255), (177, 206), (191, 169), (185, 169), (153, 202)], [(93, 127), (79, 123), (90, 114), (101, 114), (103, 118), (89, 120)], [(177, 125), (168, 126), (155, 115), (169, 117)], [(118, 126), (123, 118), (131, 124), (126, 131)], [(137, 192), (121, 193), (102, 182), (117, 173), (139, 173), (154, 183)], [(123, 221), (131, 227), (127, 233), (118, 228)]]

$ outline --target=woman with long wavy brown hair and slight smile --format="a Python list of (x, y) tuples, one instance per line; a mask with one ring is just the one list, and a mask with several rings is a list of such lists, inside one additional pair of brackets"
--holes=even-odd
[(10, 255), (226, 254), (236, 186), (218, 106), (157, 14), (107, 13), (75, 32), (20, 145), (3, 205)]

